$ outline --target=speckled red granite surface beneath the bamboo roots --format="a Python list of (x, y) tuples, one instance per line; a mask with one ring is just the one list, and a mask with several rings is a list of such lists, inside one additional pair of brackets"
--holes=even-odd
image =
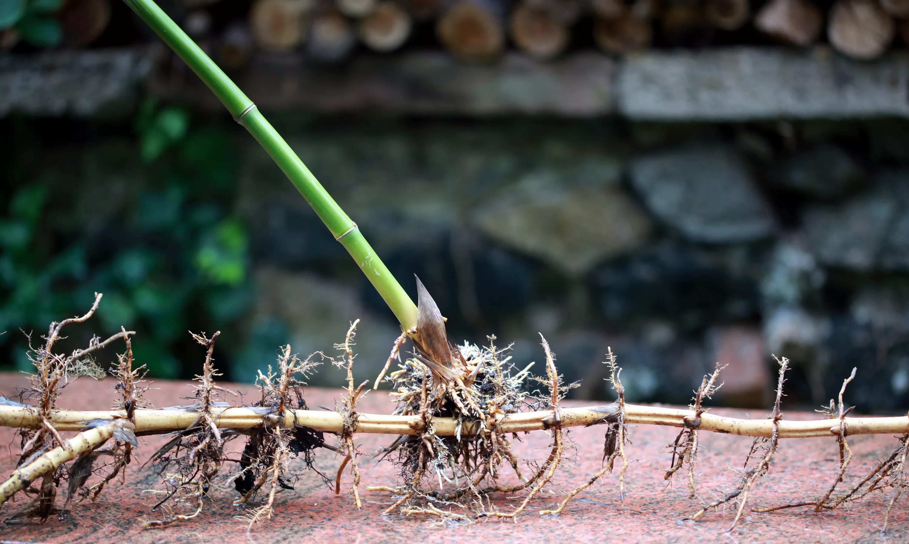
[[(0, 374), (0, 394), (9, 394), (22, 379)], [(59, 406), (62, 408), (105, 409), (114, 398), (113, 382), (97, 383), (80, 380), (65, 388)], [(155, 406), (182, 403), (179, 398), (190, 393), (183, 383), (159, 382), (159, 389), (150, 391), (148, 398)], [(249, 391), (249, 386), (236, 386)], [(339, 391), (307, 390), (310, 406), (332, 406)], [(361, 405), (363, 411), (387, 413), (390, 409), (385, 394), (371, 392)], [(747, 417), (742, 410), (716, 409), (716, 413)], [(752, 412), (763, 418), (763, 412)], [(786, 418), (814, 418), (814, 414), (787, 413)], [(634, 427), (634, 444), (629, 454), (634, 462), (628, 469), (624, 504), (619, 500), (616, 475), (607, 476), (585, 490), (561, 516), (541, 517), (537, 512), (554, 506), (565, 490), (574, 486), (600, 467), (603, 445), (602, 428), (573, 429), (570, 437), (577, 445), (571, 467), (556, 474), (551, 493), (544, 493), (518, 519), (488, 519), (474, 524), (441, 524), (436, 519), (405, 517), (400, 514), (381, 516), (391, 499), (383, 493), (365, 491), (365, 485), (391, 485), (395, 482), (395, 467), (386, 462), (363, 461), (364, 508), (357, 511), (350, 496), (335, 496), (318, 479), (305, 478), (297, 482), (294, 491), (285, 491), (276, 499), (277, 516), (251, 535), (256, 542), (909, 542), (909, 503), (902, 500), (891, 517), (887, 535), (879, 532), (889, 495), (876, 494), (850, 509), (814, 514), (809, 509), (789, 509), (776, 513), (749, 513), (730, 534), (724, 530), (732, 521), (733, 512), (726, 508), (705, 514), (696, 522), (682, 521), (685, 515), (697, 510), (687, 499), (684, 480), (667, 486), (663, 479), (669, 463), (665, 446), (673, 440), (677, 429)], [(741, 467), (750, 445), (748, 438), (704, 433), (704, 449), (698, 479), (704, 498), (723, 495), (737, 484), (730, 469)], [(14, 435), (11, 429), (0, 428), (0, 443), (9, 445), (0, 453), (0, 475), (8, 476), (14, 467)], [(874, 463), (874, 456), (886, 456), (895, 446), (890, 436), (861, 436), (851, 438), (856, 458), (849, 475), (861, 477)], [(163, 438), (145, 438), (146, 444), (138, 456), (145, 460)], [(390, 442), (384, 436), (361, 435), (361, 450)], [(524, 456), (542, 457), (547, 444), (543, 433), (524, 437), (519, 451)], [(812, 499), (822, 493), (834, 479), (837, 449), (832, 438), (784, 440), (770, 476), (754, 489), (749, 504), (771, 506), (796, 499)], [(334, 474), (339, 459), (330, 451), (320, 451), (317, 466)], [(345, 486), (350, 477), (345, 475)], [(135, 541), (164, 544), (167, 542), (244, 542), (245, 525), (239, 519), (244, 509), (231, 505), (229, 491), (216, 491), (205, 511), (195, 520), (165, 529), (141, 529), (138, 519), (148, 513), (153, 498), (143, 489), (156, 485), (151, 470), (130, 466), (122, 487), (105, 489), (97, 502), (71, 505), (65, 514), (53, 516), (43, 525), (0, 525), (0, 542), (120, 542)], [(61, 492), (61, 495), (63, 492)], [(500, 500), (507, 507), (515, 499)], [(62, 502), (62, 501), (61, 501)], [(12, 508), (6, 505), (2, 514)]]

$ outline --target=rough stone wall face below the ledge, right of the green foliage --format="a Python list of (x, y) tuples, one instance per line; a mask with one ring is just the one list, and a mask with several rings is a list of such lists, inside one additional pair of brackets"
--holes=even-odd
[[(776, 354), (791, 401), (824, 402), (855, 366), (861, 408), (909, 402), (903, 121), (277, 125), (405, 287), (423, 279), (452, 339), (495, 334), (523, 367), (543, 334), (577, 397), (608, 396), (611, 347), (634, 400), (685, 402), (719, 362), (720, 400), (759, 406)], [(315, 349), (360, 317), (372, 375), (390, 312), (270, 159), (250, 144), (242, 164), (255, 323)]]

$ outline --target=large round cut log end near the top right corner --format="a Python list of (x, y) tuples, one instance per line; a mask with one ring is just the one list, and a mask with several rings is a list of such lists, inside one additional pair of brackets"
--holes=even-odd
[(874, 0), (837, 0), (830, 10), (827, 36), (844, 55), (862, 60), (880, 56), (895, 32), (893, 17)]

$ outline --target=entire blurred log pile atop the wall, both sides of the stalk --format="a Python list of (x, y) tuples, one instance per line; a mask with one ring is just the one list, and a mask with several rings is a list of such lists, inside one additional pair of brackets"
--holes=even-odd
[[(96, 45), (119, 0), (65, 0), (61, 46)], [(829, 45), (869, 60), (909, 43), (909, 0), (162, 0), (225, 67), (256, 51), (334, 63), (358, 48), (442, 47), (465, 62), (506, 49), (540, 60), (568, 49), (623, 55), (650, 47)], [(117, 11), (113, 10), (116, 19)], [(116, 31), (114, 31), (116, 32)], [(122, 32), (122, 31), (120, 31)], [(103, 40), (102, 40), (103, 41)], [(19, 42), (0, 29), (0, 48)]]

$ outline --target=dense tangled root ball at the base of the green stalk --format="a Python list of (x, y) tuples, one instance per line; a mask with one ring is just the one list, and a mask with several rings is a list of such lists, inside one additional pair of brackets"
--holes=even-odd
[[(395, 414), (412, 416), (410, 425), (420, 432), (400, 437), (385, 448), (385, 455), (397, 455), (405, 483), (396, 488), (367, 488), (398, 495), (385, 514), (397, 509), (446, 520), (514, 518), (553, 479), (567, 447), (559, 401), (570, 386), (563, 385), (545, 339), (546, 378), (540, 378), (547, 389), (545, 396), (527, 390), (524, 380), (529, 367), (514, 372), (510, 358), (502, 357), (494, 339), (490, 337), (488, 348), (467, 344), (454, 348), (457, 376), (451, 381), (431, 385), (433, 373), (420, 358), (406, 360), (389, 376), (398, 402)], [(552, 433), (550, 453), (541, 464), (527, 462), (529, 477), (522, 474), (510, 440), (497, 428), (502, 418), (522, 408), (551, 410), (544, 418), (544, 426)], [(435, 433), (436, 417), (455, 419), (454, 436)], [(514, 471), (519, 483), (500, 481), (505, 467)], [(492, 503), (495, 493), (525, 489), (524, 499), (510, 511)]]

